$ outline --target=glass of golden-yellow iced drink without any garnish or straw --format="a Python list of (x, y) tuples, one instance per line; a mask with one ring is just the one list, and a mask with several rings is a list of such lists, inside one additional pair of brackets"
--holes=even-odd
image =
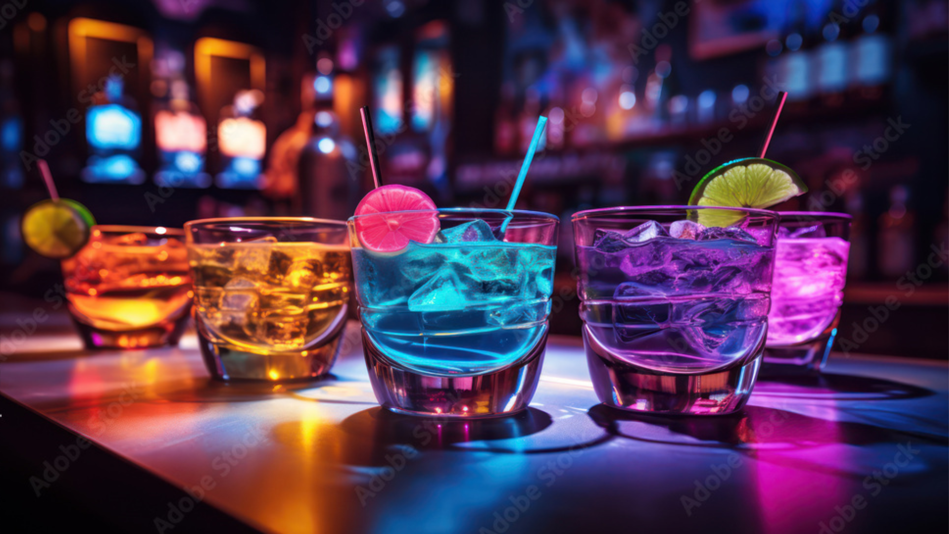
[(350, 296), (345, 222), (201, 219), (185, 224), (195, 326), (221, 380), (311, 379), (340, 350)]

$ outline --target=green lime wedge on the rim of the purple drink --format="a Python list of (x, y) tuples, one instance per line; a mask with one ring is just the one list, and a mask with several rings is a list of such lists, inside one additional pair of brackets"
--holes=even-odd
[[(745, 158), (727, 162), (705, 175), (689, 197), (694, 206), (770, 208), (807, 193), (791, 168), (771, 160)], [(731, 210), (696, 210), (705, 226), (729, 226), (744, 217)]]

